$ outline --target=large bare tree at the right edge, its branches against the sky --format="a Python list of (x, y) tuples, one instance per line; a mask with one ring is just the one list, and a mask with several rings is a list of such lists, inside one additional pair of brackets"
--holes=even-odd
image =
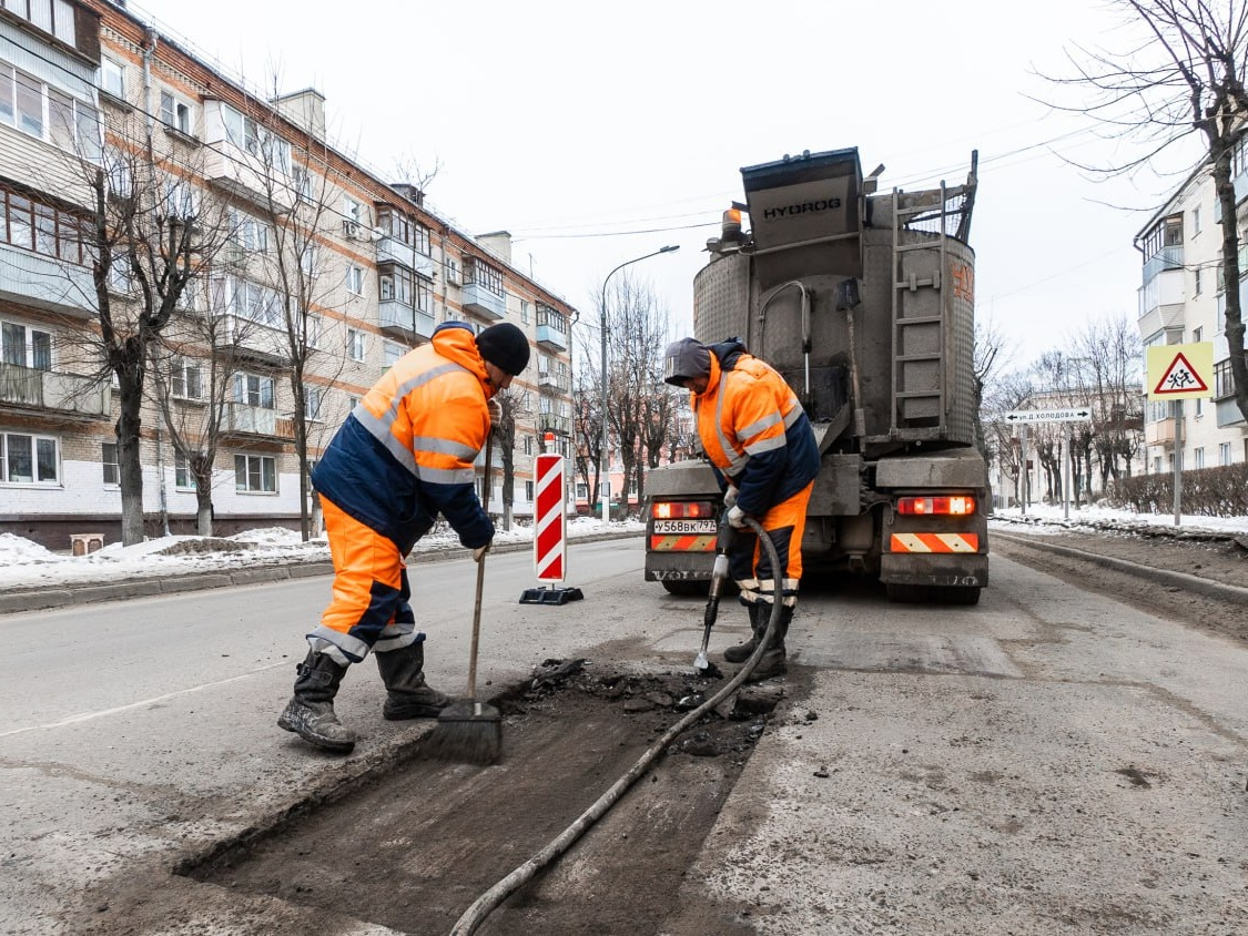
[(1058, 86), (1091, 90), (1092, 100), (1060, 107), (1092, 116), (1139, 155), (1109, 166), (1085, 166), (1111, 175), (1154, 165), (1166, 150), (1199, 134), (1203, 158), (1212, 167), (1221, 208), (1222, 273), (1226, 283), (1224, 332), (1236, 384), (1236, 404), (1248, 419), (1248, 361), (1241, 307), (1239, 215), (1234, 175), (1243, 170), (1248, 134), (1248, 5), (1207, 0), (1116, 0), (1142, 32), (1133, 45), (1111, 51), (1076, 45), (1073, 77)]

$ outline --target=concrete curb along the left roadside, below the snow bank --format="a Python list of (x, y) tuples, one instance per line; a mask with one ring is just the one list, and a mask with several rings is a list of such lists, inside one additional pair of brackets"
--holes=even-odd
[[(569, 540), (575, 543), (599, 543), (607, 539), (629, 539), (643, 535), (640, 530), (623, 533), (595, 533)], [(504, 543), (494, 547), (492, 553), (519, 553), (533, 549), (532, 543)], [(459, 548), (431, 549), (416, 553), (414, 562), (446, 562), (463, 559), (466, 552)], [(255, 585), (265, 582), (283, 582), (287, 579), (306, 579), (316, 575), (333, 574), (329, 562), (292, 562), (257, 565), (243, 569), (213, 569), (191, 572), (163, 578), (131, 578), (109, 583), (85, 583), (81, 585), (54, 585), (49, 588), (20, 589), (0, 592), (0, 614), (21, 612), (41, 612), (52, 608), (95, 604), (96, 602), (121, 602), (129, 598), (145, 598), (185, 592), (202, 592), (210, 588), (230, 585)]]

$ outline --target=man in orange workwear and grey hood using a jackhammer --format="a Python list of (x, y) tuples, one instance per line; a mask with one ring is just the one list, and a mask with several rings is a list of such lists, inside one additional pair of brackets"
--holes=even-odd
[[(681, 338), (668, 346), (664, 379), (691, 393), (703, 451), (725, 489), (728, 522), (736, 529), (729, 549), (729, 574), (750, 615), (753, 636), (724, 651), (744, 663), (758, 648), (780, 603), (779, 629), (750, 674), (756, 681), (786, 668), (789, 633), (801, 580), (801, 537), (806, 504), (819, 473), (819, 449), (797, 396), (770, 364), (749, 354), (735, 338), (703, 344)], [(746, 527), (753, 517), (776, 548), (780, 568)]]

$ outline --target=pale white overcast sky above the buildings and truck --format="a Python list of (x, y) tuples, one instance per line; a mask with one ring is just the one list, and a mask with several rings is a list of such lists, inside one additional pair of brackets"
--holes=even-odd
[[(1086, 121), (1028, 97), (1063, 47), (1111, 41), (1092, 0), (132, 0), (228, 76), (327, 97), (339, 149), (389, 180), (439, 165), (429, 202), (468, 233), (507, 230), (513, 263), (597, 323), (629, 267), (691, 324), (691, 280), (741, 166), (857, 146), (882, 186), (966, 177), (981, 318), (1017, 363), (1091, 318), (1136, 318), (1133, 236), (1178, 177), (1096, 182)], [(393, 181), (398, 181), (394, 178)], [(1137, 187), (1138, 186), (1138, 187)], [(634, 232), (634, 233), (622, 233)]]

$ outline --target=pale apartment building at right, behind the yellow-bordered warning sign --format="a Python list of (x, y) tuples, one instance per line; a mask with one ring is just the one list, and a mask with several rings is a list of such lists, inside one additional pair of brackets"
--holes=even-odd
[[(1248, 162), (1234, 160), (1236, 195), (1248, 197)], [(1224, 328), (1221, 211), (1208, 165), (1199, 167), (1136, 236), (1143, 258), (1139, 336), (1154, 344), (1213, 343), (1211, 399), (1146, 401), (1144, 442), (1149, 472), (1174, 470), (1176, 438), (1184, 469), (1248, 461), (1248, 424), (1234, 401)], [(1241, 225), (1241, 238), (1244, 237)], [(1248, 270), (1241, 248), (1241, 270)], [(1241, 296), (1244, 296), (1241, 281)], [(1178, 431), (1178, 432), (1177, 432)]]

